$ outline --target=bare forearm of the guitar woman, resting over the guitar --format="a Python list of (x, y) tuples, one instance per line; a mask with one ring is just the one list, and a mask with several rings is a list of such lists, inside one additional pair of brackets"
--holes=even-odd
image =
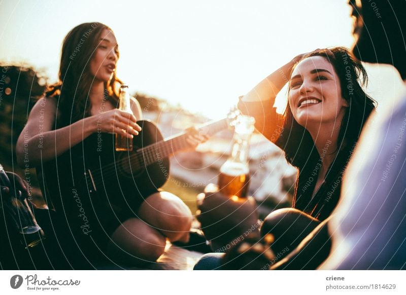
[(40, 132), (29, 139), (24, 138), (24, 142), (20, 142), (16, 149), (18, 164), (23, 167), (35, 167), (41, 162), (54, 159), (95, 130), (96, 122), (93, 117), (89, 117), (57, 130)]

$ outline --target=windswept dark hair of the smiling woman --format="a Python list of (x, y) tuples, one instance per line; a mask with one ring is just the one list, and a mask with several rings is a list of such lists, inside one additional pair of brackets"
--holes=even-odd
[[(375, 108), (375, 101), (362, 89), (367, 84), (367, 74), (360, 62), (345, 47), (322, 49), (307, 55), (322, 56), (334, 67), (340, 79), (343, 98), (348, 102), (337, 140), (338, 152), (352, 149), (358, 140), (362, 127)], [(285, 157), (293, 166), (303, 168), (310, 158), (316, 157), (315, 144), (310, 132), (293, 118), (289, 105), (286, 107), (283, 131), (278, 139), (285, 151)]]

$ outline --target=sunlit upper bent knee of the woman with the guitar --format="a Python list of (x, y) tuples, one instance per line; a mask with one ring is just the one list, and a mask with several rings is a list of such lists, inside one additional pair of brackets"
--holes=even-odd
[(171, 242), (188, 242), (192, 213), (177, 196), (168, 192), (152, 194), (139, 209), (139, 217)]

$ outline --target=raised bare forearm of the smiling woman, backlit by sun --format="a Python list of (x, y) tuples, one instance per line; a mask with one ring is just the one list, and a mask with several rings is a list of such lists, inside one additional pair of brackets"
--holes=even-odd
[(289, 81), (292, 67), (296, 62), (296, 58), (292, 59), (268, 77), (259, 82), (251, 91), (243, 96), (242, 100), (246, 102), (250, 101), (262, 101), (272, 100), (275, 102), (275, 97), (281, 91), (283, 86)]

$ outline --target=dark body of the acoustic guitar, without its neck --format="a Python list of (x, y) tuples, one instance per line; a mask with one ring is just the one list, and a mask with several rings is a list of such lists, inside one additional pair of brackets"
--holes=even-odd
[[(56, 160), (37, 168), (47, 203), (52, 201), (57, 210), (77, 211), (80, 202), (92, 209), (136, 212), (145, 198), (164, 185), (170, 169), (168, 157), (154, 151), (154, 143), (163, 139), (156, 125), (137, 123), (142, 131), (132, 139), (131, 152), (115, 151), (114, 134), (93, 133)], [(149, 149), (140, 153), (143, 146)], [(152, 157), (157, 161), (146, 165)]]

